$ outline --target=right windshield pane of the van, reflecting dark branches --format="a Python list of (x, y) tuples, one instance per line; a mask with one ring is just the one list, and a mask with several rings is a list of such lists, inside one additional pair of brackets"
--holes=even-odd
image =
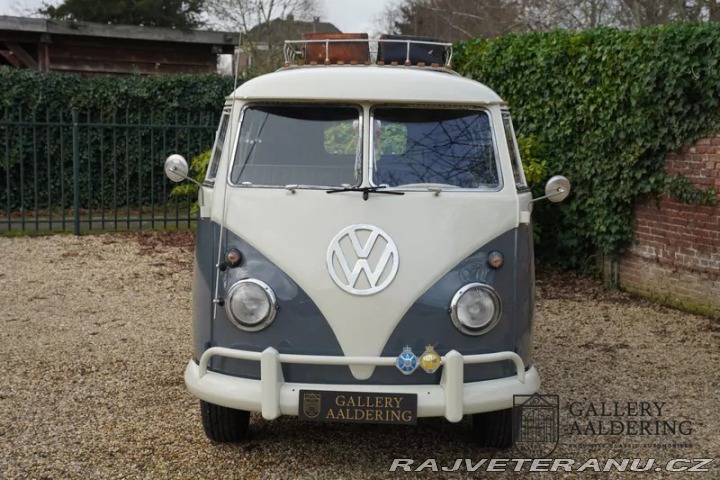
[(483, 110), (377, 107), (373, 183), (499, 187), (490, 117)]

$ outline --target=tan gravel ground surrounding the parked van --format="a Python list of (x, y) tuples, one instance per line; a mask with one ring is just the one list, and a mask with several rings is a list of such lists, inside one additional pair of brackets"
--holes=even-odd
[[(438, 467), (522, 458), (474, 446), (467, 420), (409, 428), (255, 415), (247, 442), (212, 444), (182, 380), (191, 350), (190, 235), (0, 238), (0, 251), (0, 478), (459, 478), (477, 474), (388, 470), (393, 458), (413, 459), (413, 467), (428, 458)], [(552, 457), (598, 457), (601, 465), (713, 458), (708, 473), (693, 477), (720, 478), (719, 340), (717, 321), (590, 280), (540, 275), (536, 364), (542, 392), (560, 397)], [(664, 402), (660, 417), (634, 419), (685, 422), (692, 432), (585, 435), (589, 421), (626, 425), (614, 412), (586, 416), (591, 404), (616, 401)]]

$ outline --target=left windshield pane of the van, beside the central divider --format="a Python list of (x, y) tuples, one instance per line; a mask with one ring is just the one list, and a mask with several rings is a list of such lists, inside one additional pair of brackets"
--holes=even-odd
[(359, 107), (253, 105), (245, 109), (233, 184), (331, 187), (360, 183)]

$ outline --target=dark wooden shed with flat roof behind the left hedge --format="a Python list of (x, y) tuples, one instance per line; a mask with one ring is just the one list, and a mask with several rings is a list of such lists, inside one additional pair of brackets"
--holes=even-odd
[(0, 16), (0, 64), (84, 75), (210, 73), (230, 32)]

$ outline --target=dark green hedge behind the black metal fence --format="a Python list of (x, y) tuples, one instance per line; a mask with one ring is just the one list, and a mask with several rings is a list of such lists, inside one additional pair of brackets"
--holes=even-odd
[(163, 204), (170, 153), (212, 146), (233, 79), (219, 75), (81, 77), (0, 68), (0, 209), (72, 206), (72, 110), (81, 207)]

